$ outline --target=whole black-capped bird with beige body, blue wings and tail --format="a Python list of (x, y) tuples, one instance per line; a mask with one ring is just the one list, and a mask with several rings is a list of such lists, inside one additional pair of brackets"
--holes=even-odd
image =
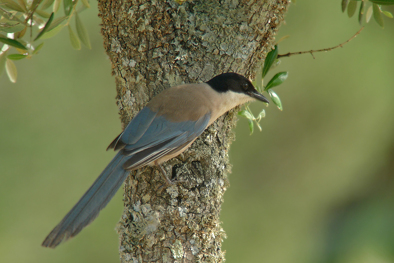
[(108, 146), (118, 153), (42, 246), (55, 248), (89, 225), (133, 170), (157, 166), (165, 184), (172, 184), (161, 164), (185, 151), (221, 115), (255, 99), (269, 103), (248, 78), (234, 72), (159, 93)]

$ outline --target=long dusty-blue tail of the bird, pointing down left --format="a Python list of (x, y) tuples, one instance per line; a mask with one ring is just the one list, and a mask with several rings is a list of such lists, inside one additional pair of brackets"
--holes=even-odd
[(56, 247), (63, 239), (79, 233), (99, 215), (99, 211), (111, 200), (130, 173), (122, 168), (126, 158), (119, 152), (112, 159), (89, 190), (49, 233), (42, 246)]

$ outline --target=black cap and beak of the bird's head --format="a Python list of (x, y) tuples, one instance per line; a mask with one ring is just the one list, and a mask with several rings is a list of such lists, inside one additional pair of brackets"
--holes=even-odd
[(234, 72), (217, 75), (206, 83), (219, 93), (228, 91), (244, 93), (254, 99), (269, 103), (268, 100), (255, 89), (249, 79)]

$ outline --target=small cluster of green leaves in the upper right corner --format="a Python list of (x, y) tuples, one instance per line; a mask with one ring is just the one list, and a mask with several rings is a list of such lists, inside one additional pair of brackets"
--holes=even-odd
[[(365, 2), (371, 2), (371, 5), (366, 9)], [(382, 5), (394, 5), (394, 0), (342, 0), (342, 12), (345, 12), (347, 9), (347, 13), (349, 17), (352, 17), (357, 10), (357, 4), (361, 2), (359, 8), (359, 23), (362, 24), (362, 20), (365, 14), (366, 23), (373, 17), (376, 23), (379, 24), (382, 28), (384, 28), (383, 16), (384, 14), (387, 17), (393, 18), (393, 14), (389, 11), (382, 10)], [(365, 12), (366, 10), (366, 12)]]

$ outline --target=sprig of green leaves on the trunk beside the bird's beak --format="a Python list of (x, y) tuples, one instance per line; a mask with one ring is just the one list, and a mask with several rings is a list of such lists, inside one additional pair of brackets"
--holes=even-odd
[[(282, 84), (288, 76), (288, 72), (279, 72), (276, 73), (267, 83), (267, 85), (263, 85), (263, 79), (267, 74), (268, 70), (272, 69), (273, 67), (277, 66), (280, 61), (277, 59), (278, 57), (278, 46), (275, 45), (274, 49), (268, 52), (267, 56), (265, 57), (264, 63), (260, 68), (259, 72), (256, 75), (255, 81), (253, 84), (255, 85), (256, 89), (259, 92), (267, 92), (268, 95), (271, 97), (272, 102), (282, 110), (282, 102), (279, 99), (279, 96), (272, 90), (273, 87), (276, 87)], [(266, 104), (266, 103), (265, 103)], [(268, 104), (266, 104), (268, 106)], [(246, 105), (244, 110), (238, 112), (238, 115), (245, 117), (249, 123), (249, 130), (250, 134), (253, 133), (254, 124), (262, 131), (262, 128), (259, 124), (260, 120), (265, 117), (265, 111), (262, 110), (257, 117), (255, 117), (250, 110), (249, 106)]]

